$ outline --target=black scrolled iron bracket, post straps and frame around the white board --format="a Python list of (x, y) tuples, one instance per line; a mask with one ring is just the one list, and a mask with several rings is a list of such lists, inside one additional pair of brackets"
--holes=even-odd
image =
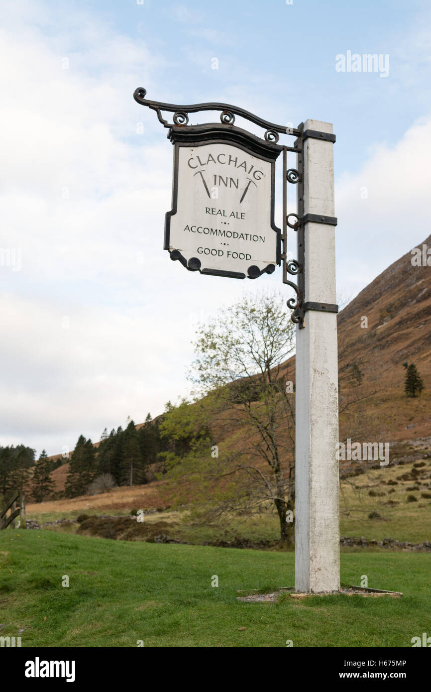
[[(189, 105), (177, 105), (172, 103), (163, 103), (160, 101), (150, 101), (145, 98), (147, 91), (139, 87), (134, 92), (134, 99), (137, 103), (147, 106), (149, 109), (156, 111), (159, 122), (163, 127), (169, 129), (167, 137), (174, 144), (174, 194), (172, 199), (172, 210), (167, 212), (165, 216), (165, 250), (169, 250), (169, 227), (170, 218), (176, 213), (176, 192), (178, 188), (178, 154), (179, 147), (215, 143), (231, 142), (236, 147), (244, 149), (245, 152), (258, 156), (264, 161), (271, 163), (271, 228), (277, 233), (277, 264), (282, 262), (283, 268), (283, 283), (291, 286), (295, 291), (295, 298), (289, 298), (287, 301), (288, 307), (292, 310), (291, 320), (302, 329), (304, 327), (304, 313), (307, 310), (319, 310), (326, 312), (338, 312), (338, 305), (329, 303), (315, 303), (305, 300), (304, 296), (304, 228), (308, 222), (331, 224), (336, 226), (337, 219), (335, 217), (326, 217), (323, 215), (304, 216), (304, 141), (306, 138), (313, 137), (316, 139), (336, 141), (336, 136), (326, 132), (320, 132), (307, 129), (304, 131), (304, 125), (301, 123), (297, 128), (285, 127), (283, 125), (275, 125), (273, 122), (259, 118), (254, 113), (246, 111), (243, 108), (232, 106), (227, 103), (207, 102)], [(173, 122), (169, 123), (162, 116), (162, 111), (174, 113)], [(221, 111), (220, 123), (210, 122), (203, 125), (188, 125), (188, 113), (197, 113), (200, 111)], [(257, 137), (252, 133), (234, 125), (235, 116), (245, 118), (255, 125), (259, 125), (265, 129), (263, 138)], [(295, 141), (292, 147), (279, 145), (279, 135), (293, 135)], [(293, 152), (297, 155), (297, 167), (287, 170), (287, 152)], [(279, 228), (274, 224), (274, 195), (275, 195), (275, 161), (279, 154), (282, 153), (283, 165), (283, 224), (280, 233)], [(297, 213), (287, 215), (287, 185), (292, 183), (297, 185)], [(289, 217), (295, 219), (289, 221)], [(297, 234), (297, 259), (287, 260), (287, 228), (292, 228)], [(282, 248), (280, 248), (280, 241)], [(201, 262), (197, 257), (192, 257), (190, 260), (185, 259), (178, 250), (170, 253), (172, 260), (179, 260), (183, 266), (190, 271), (200, 271), (205, 274), (222, 275), (234, 278), (245, 278), (245, 274), (229, 271), (216, 271), (211, 269), (201, 270)], [(273, 264), (268, 264), (264, 270), (260, 270), (257, 266), (252, 266), (248, 270), (248, 277), (256, 278), (262, 273), (272, 273), (275, 270)], [(297, 277), (297, 284), (288, 279), (288, 275)]]

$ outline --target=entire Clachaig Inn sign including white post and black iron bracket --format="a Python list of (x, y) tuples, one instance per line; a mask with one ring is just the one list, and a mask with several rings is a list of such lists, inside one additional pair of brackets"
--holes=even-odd
[[(172, 209), (165, 250), (188, 271), (257, 279), (282, 264), (296, 334), (295, 589), (339, 589), (338, 365), (335, 293), (333, 143), (327, 122), (275, 125), (226, 103), (176, 105), (148, 100), (174, 145)], [(216, 111), (218, 122), (190, 124), (190, 113)], [(168, 122), (165, 113), (173, 113)], [(253, 123), (261, 136), (235, 125)], [(214, 116), (212, 116), (214, 117)], [(280, 136), (291, 136), (288, 145)], [(287, 160), (296, 156), (295, 167)], [(281, 156), (282, 228), (274, 221), (275, 163)], [(297, 209), (287, 213), (287, 188)], [(287, 232), (296, 235), (296, 259)], [(293, 280), (296, 281), (293, 281)]]

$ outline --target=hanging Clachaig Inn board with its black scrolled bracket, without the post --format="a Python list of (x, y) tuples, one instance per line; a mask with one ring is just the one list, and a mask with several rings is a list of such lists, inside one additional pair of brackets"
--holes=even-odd
[[(304, 131), (275, 125), (245, 109), (225, 103), (175, 105), (150, 101), (146, 90), (136, 89), (134, 99), (156, 111), (168, 128), (174, 145), (172, 210), (165, 216), (165, 250), (189, 271), (201, 274), (256, 279), (283, 264), (283, 281), (296, 298), (288, 301), (292, 319), (303, 325), (304, 311), (318, 305), (304, 301), (303, 156), (309, 137), (335, 141), (324, 132)], [(173, 122), (162, 111), (174, 113)], [(189, 113), (221, 111), (220, 122), (189, 125)], [(264, 129), (264, 136), (237, 127), (240, 116)], [(279, 145), (279, 134), (295, 138), (293, 146)], [(297, 154), (297, 168), (286, 170), (286, 154)], [(283, 226), (275, 226), (275, 161), (283, 162)], [(286, 182), (297, 185), (298, 213), (286, 215)], [(315, 215), (308, 215), (313, 217)], [(309, 219), (314, 220), (314, 219)], [(319, 215), (319, 223), (336, 224), (336, 219)], [(287, 227), (297, 231), (297, 260), (286, 257)], [(297, 276), (297, 284), (288, 275)], [(337, 311), (326, 304), (320, 309)]]

